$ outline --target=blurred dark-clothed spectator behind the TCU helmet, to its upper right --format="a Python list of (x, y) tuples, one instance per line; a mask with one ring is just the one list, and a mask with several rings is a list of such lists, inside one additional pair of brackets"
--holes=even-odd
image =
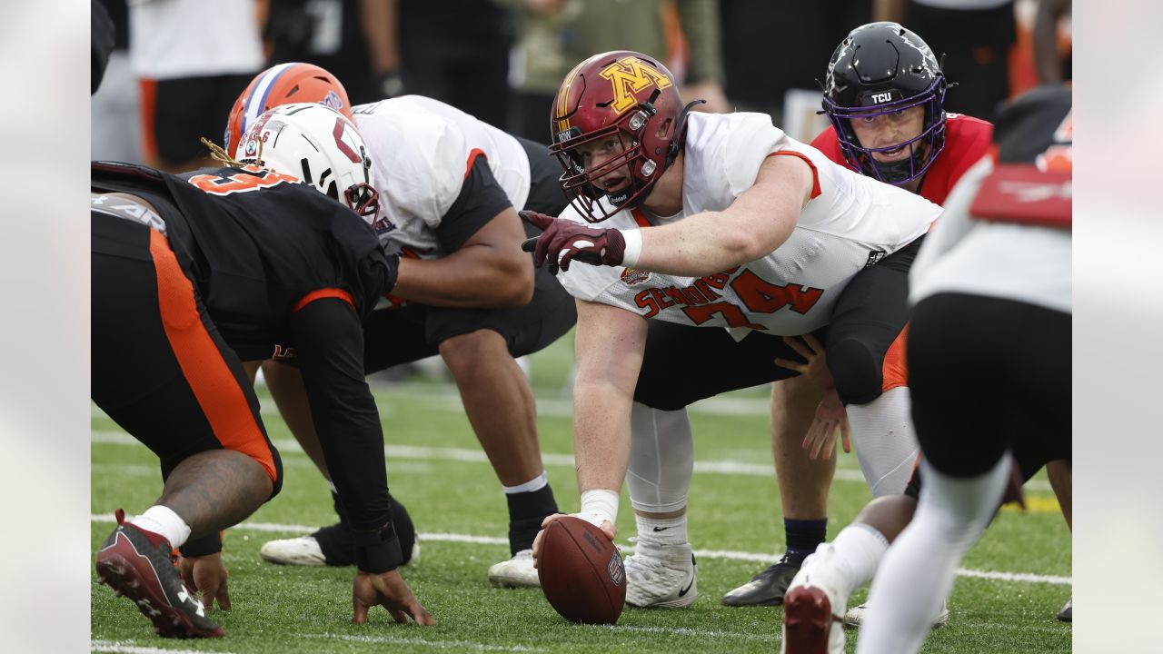
[[(878, 21), (923, 34), (942, 61), (946, 108), (990, 120), (1009, 97), (1009, 51), (1018, 40), (1013, 0), (875, 0)], [(968, 90), (972, 90), (971, 92)]]

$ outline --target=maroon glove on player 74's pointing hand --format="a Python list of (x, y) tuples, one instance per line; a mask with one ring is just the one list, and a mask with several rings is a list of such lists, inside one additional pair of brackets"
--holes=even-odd
[(549, 271), (570, 269), (575, 258), (590, 265), (621, 265), (626, 239), (618, 229), (586, 227), (533, 211), (521, 212), (529, 225), (542, 229), (541, 236), (521, 243), (521, 249), (533, 253), (533, 263), (541, 268), (549, 262)]

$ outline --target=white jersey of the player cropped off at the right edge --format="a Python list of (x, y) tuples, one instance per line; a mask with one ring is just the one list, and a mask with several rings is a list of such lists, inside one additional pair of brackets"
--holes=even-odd
[(909, 271), (909, 300), (968, 293), (1071, 313), (1069, 229), (970, 215), (969, 207), (992, 171), (993, 162), (982, 159), (949, 193), (944, 214)]

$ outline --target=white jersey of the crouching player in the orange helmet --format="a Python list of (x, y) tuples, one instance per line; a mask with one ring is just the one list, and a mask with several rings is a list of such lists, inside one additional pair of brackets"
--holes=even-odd
[(477, 156), (516, 208), (529, 197), (529, 157), (516, 138), (438, 100), (404, 95), (352, 107), (371, 156), (388, 254), (440, 258), (435, 229), (461, 194)]

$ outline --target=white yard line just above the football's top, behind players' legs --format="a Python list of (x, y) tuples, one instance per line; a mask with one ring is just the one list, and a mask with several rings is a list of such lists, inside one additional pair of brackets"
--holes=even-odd
[[(136, 439), (124, 432), (112, 429), (93, 429), (92, 442), (100, 445), (141, 445)], [(302, 447), (293, 439), (276, 439), (271, 441), (279, 449), (279, 454), (302, 454)], [(465, 463), (488, 463), (488, 457), (479, 449), (461, 447), (428, 447), (411, 445), (390, 445), (384, 447), (384, 454), (388, 458), (413, 458), (420, 461), (461, 461)], [(548, 454), (541, 455), (541, 461), (545, 465), (558, 465), (562, 468), (573, 468), (572, 454)], [(398, 463), (393, 463), (393, 470)], [(400, 472), (412, 471), (400, 468)], [(427, 471), (427, 470), (422, 470)], [(775, 467), (771, 463), (745, 463), (743, 461), (695, 461), (694, 471), (705, 475), (732, 475), (747, 477), (775, 477)], [(841, 482), (864, 483), (864, 475), (859, 470), (837, 469), (835, 479)], [(1042, 479), (1034, 479), (1026, 483), (1029, 490), (1049, 491), (1050, 483)]]

